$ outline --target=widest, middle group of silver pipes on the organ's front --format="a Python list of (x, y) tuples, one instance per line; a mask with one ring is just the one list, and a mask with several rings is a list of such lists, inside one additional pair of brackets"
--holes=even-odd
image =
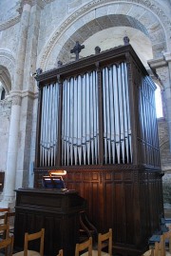
[(96, 71), (66, 79), (63, 84), (63, 165), (98, 163), (97, 112)]

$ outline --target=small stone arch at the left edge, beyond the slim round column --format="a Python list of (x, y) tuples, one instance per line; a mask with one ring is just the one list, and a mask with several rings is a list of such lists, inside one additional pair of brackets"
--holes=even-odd
[(0, 49), (0, 64), (0, 80), (9, 93), (13, 85), (15, 67), (15, 59), (9, 50)]

